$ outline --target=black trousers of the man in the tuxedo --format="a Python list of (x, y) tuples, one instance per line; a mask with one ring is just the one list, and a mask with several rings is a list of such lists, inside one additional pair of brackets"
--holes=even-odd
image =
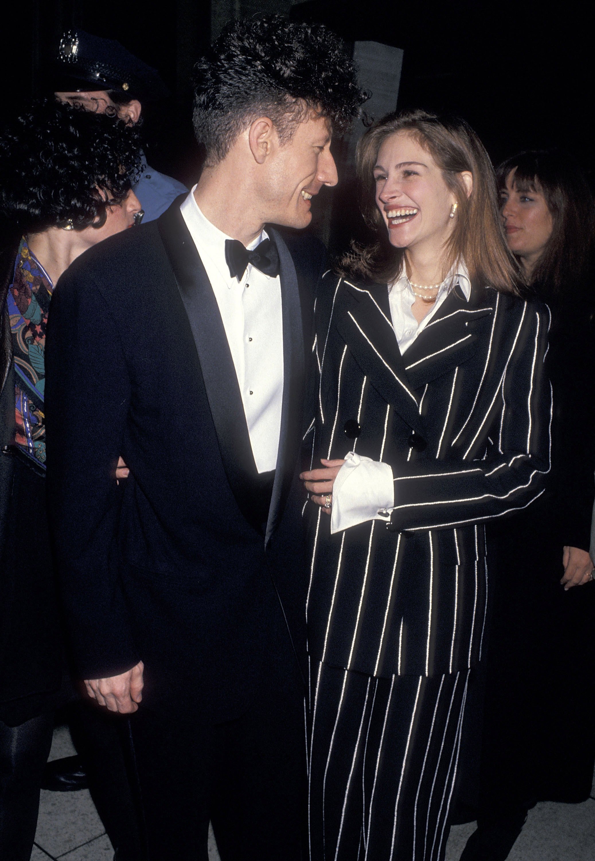
[(130, 719), (150, 861), (207, 861), (212, 821), (222, 861), (305, 858), (304, 684), (292, 653), (272, 664), (234, 720), (141, 707)]

